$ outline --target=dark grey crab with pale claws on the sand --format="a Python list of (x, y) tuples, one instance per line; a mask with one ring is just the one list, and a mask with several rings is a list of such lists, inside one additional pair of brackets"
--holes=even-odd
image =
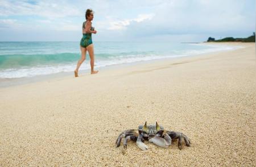
[(171, 145), (172, 141), (178, 140), (178, 148), (181, 150), (182, 147), (182, 139), (185, 141), (185, 145), (190, 147), (191, 141), (190, 139), (181, 132), (174, 131), (166, 131), (163, 126), (160, 126), (158, 122), (155, 124), (150, 124), (147, 126), (147, 122), (145, 122), (144, 126), (140, 125), (138, 130), (126, 130), (123, 131), (115, 141), (116, 147), (119, 147), (121, 144), (121, 140), (123, 141), (123, 153), (126, 152), (127, 149), (127, 141), (132, 140), (136, 141), (137, 146), (145, 151), (148, 149), (148, 146), (143, 143), (144, 140), (149, 141), (150, 143), (154, 143), (159, 147), (168, 148)]

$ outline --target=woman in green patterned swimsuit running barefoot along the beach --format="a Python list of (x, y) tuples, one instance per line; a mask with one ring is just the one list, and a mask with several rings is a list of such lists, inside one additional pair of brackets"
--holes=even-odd
[(86, 21), (82, 23), (82, 39), (80, 41), (81, 59), (77, 62), (75, 77), (78, 77), (80, 65), (84, 62), (86, 57), (86, 51), (89, 52), (90, 56), (90, 73), (96, 74), (98, 70), (94, 70), (94, 51), (92, 43), (92, 34), (96, 34), (97, 31), (92, 27), (93, 11), (87, 9), (85, 12)]

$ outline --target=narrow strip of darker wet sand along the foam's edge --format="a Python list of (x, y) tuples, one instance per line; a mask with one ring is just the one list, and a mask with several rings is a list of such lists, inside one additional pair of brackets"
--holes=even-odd
[[(231, 45), (231, 46), (245, 46), (242, 43), (233, 42), (233, 43), (195, 43), (195, 44), (203, 44), (203, 45)], [(240, 48), (236, 48), (240, 49)], [(186, 59), (190, 57), (197, 57), (197, 56), (205, 56), (205, 55), (212, 55), (214, 53), (220, 53), (220, 52), (229, 52), (234, 51), (236, 49), (232, 50), (223, 50), (223, 51), (214, 51), (209, 53), (200, 53), (196, 55), (190, 55), (190, 56), (177, 56), (177, 57), (167, 57), (163, 59), (155, 59), (155, 60), (147, 60), (147, 61), (138, 61), (138, 62), (130, 62), (130, 63), (124, 63), (124, 64), (116, 64), (116, 65), (110, 65), (110, 66), (103, 66), (100, 67), (100, 72), (103, 70), (115, 70), (115, 69), (121, 69), (126, 68), (127, 66), (136, 66), (136, 65), (144, 65), (144, 64), (150, 64), (154, 62), (161, 62), (161, 61), (177, 61), (179, 59)], [(74, 67), (75, 68), (75, 67)], [(96, 66), (97, 68), (97, 66)], [(81, 76), (84, 76), (86, 74), (90, 74), (90, 69), (80, 70), (80, 73), (82, 73)], [(43, 81), (49, 81), (60, 79), (63, 77), (70, 77), (73, 76), (73, 72), (61, 72), (61, 73), (53, 73), (53, 74), (47, 74), (47, 75), (40, 75), (40, 76), (34, 76), (34, 77), (22, 77), (22, 78), (0, 78), (0, 89), (4, 87), (10, 87), (10, 86), (19, 86), (19, 85), (26, 85), (27, 83), (35, 83), (35, 82), (43, 82)]]

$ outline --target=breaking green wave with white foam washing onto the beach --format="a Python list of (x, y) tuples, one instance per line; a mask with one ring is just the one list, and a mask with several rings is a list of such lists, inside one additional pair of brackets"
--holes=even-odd
[[(189, 44), (201, 45), (201, 44)], [(204, 44), (203, 44), (204, 45)], [(205, 45), (204, 45), (205, 47)], [(96, 68), (127, 64), (139, 61), (167, 59), (174, 57), (193, 56), (203, 53), (228, 51), (241, 47), (210, 46), (203, 49), (172, 49), (168, 53), (148, 52), (117, 52), (96, 54)], [(80, 59), (79, 53), (60, 53), (50, 55), (2, 55), (0, 56), (0, 78), (22, 78), (47, 75), (60, 72), (72, 72)], [(80, 70), (90, 69), (88, 59)]]

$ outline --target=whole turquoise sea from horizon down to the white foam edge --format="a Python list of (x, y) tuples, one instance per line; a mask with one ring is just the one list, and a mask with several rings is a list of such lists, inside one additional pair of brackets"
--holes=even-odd
[[(234, 49), (224, 45), (152, 42), (96, 42), (96, 69), (138, 61), (193, 56)], [(80, 59), (79, 42), (0, 42), (0, 78), (72, 72)], [(80, 70), (90, 69), (89, 55)]]

